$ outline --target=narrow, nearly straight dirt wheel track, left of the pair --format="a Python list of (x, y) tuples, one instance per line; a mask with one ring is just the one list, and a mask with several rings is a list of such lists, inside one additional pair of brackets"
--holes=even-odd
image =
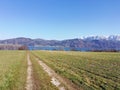
[(27, 81), (26, 81), (26, 90), (33, 90), (33, 78), (32, 78), (32, 62), (30, 61), (30, 56), (27, 54), (27, 62), (28, 62), (28, 68), (27, 68)]

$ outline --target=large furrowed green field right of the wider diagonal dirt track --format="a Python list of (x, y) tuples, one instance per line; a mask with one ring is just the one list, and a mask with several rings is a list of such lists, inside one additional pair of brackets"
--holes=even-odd
[(120, 53), (32, 51), (85, 90), (120, 90)]

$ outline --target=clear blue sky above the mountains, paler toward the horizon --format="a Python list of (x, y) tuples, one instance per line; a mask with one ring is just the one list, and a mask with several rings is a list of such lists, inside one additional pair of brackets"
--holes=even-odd
[(0, 40), (120, 35), (120, 0), (0, 0)]

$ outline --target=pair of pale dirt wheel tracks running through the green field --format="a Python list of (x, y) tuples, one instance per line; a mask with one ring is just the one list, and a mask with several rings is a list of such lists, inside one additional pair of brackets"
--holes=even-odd
[[(58, 90), (77, 90), (73, 87), (73, 85), (69, 84), (68, 81), (63, 79), (61, 76), (55, 73), (53, 69), (51, 69), (49, 66), (47, 66), (43, 61), (36, 58), (38, 64), (43, 68), (43, 70), (48, 74), (48, 76), (51, 78), (51, 83), (58, 88)], [(28, 68), (27, 68), (27, 81), (26, 81), (26, 90), (34, 90), (34, 78), (33, 78), (33, 65), (30, 60), (30, 54), (27, 53), (27, 62), (28, 62)]]

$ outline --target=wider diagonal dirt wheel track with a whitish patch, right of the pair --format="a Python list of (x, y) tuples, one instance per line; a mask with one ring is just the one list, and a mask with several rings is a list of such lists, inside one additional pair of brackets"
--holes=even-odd
[[(36, 58), (38, 63), (42, 66), (43, 70), (48, 73), (48, 75), (51, 77), (51, 83), (58, 87), (59, 90), (80, 90), (76, 89), (72, 84), (69, 82), (66, 82), (65, 79), (60, 77), (53, 69), (51, 69), (49, 66), (47, 66), (43, 61), (41, 61), (39, 58)], [(62, 85), (64, 84), (65, 87)], [(67, 88), (67, 89), (66, 89)]]

